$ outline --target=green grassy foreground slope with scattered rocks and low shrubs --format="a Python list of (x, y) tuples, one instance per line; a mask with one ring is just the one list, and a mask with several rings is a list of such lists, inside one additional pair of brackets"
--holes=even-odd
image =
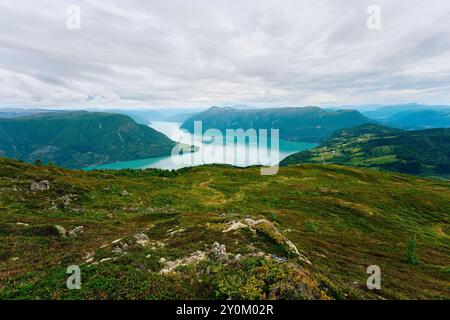
[[(449, 182), (335, 165), (261, 176), (1, 158), (0, 176), (0, 299), (450, 298)], [(30, 191), (41, 180), (50, 189)], [(84, 233), (62, 237), (55, 225)], [(417, 264), (405, 262), (411, 239)], [(72, 264), (81, 290), (66, 288)], [(366, 288), (374, 264), (380, 291)]]

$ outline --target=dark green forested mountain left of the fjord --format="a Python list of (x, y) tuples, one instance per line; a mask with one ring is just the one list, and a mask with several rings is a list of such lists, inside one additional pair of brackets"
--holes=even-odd
[(174, 145), (119, 114), (76, 111), (0, 119), (0, 155), (68, 168), (169, 155)]

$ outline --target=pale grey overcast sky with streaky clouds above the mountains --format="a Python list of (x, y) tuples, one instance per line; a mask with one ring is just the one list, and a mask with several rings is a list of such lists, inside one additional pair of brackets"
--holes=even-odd
[(0, 106), (412, 101), (450, 104), (449, 0), (0, 1)]

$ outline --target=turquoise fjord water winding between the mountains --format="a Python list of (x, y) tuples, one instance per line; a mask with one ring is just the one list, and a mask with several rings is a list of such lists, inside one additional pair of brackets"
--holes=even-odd
[[(153, 129), (162, 132), (170, 139), (187, 145), (195, 145), (198, 151), (175, 156), (155, 157), (149, 159), (121, 161), (89, 167), (94, 169), (180, 169), (183, 167), (197, 166), (202, 164), (223, 163), (236, 166), (267, 165), (268, 162), (261, 160), (258, 154), (271, 155), (270, 146), (258, 146), (249, 141), (223, 144), (222, 142), (208, 141), (201, 136), (188, 133), (180, 129), (180, 123), (154, 121), (150, 125)], [(206, 140), (206, 141), (205, 141)], [(287, 156), (314, 148), (317, 144), (307, 142), (279, 141), (279, 152), (273, 159), (283, 160)], [(273, 163), (272, 163), (273, 164)]]

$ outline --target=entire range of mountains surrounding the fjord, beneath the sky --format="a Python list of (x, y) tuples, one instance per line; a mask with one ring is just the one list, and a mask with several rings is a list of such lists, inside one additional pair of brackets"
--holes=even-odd
[(450, 129), (417, 131), (450, 128), (450, 108), (445, 106), (405, 104), (363, 113), (318, 107), (256, 109), (247, 105), (211, 107), (203, 112), (110, 110), (115, 113), (0, 109), (0, 156), (69, 168), (165, 156), (175, 143), (149, 128), (150, 121), (183, 122), (182, 128), (190, 132), (195, 121), (202, 121), (204, 131), (275, 128), (284, 140), (321, 143), (316, 149), (290, 156), (283, 165), (332, 162), (428, 176), (450, 175)]

